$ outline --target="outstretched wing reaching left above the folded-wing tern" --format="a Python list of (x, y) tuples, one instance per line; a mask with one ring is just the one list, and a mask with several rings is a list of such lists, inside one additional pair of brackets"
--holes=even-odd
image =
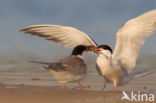
[(77, 45), (96, 45), (84, 32), (72, 27), (59, 25), (32, 25), (21, 29), (24, 33), (45, 37), (68, 48)]

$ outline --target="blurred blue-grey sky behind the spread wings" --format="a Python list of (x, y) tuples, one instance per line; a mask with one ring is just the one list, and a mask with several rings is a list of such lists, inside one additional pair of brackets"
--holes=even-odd
[[(0, 0), (0, 55), (70, 52), (43, 38), (19, 32), (20, 28), (36, 24), (72, 26), (114, 48), (116, 32), (123, 23), (155, 8), (156, 0)], [(156, 54), (155, 43), (153, 35), (141, 53)]]

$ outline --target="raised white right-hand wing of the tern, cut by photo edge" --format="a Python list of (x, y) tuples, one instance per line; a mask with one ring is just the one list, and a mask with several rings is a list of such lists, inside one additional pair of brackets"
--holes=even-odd
[(126, 68), (128, 72), (135, 67), (140, 48), (146, 37), (156, 30), (156, 9), (126, 22), (117, 32), (113, 53), (114, 65)]

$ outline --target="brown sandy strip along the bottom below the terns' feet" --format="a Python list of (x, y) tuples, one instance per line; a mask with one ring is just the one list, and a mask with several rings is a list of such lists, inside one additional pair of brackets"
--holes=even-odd
[[(54, 87), (0, 85), (0, 103), (132, 103), (126, 100), (121, 102), (121, 97), (121, 91), (113, 95), (112, 91), (80, 89), (64, 91)], [(156, 103), (156, 100), (149, 103)]]

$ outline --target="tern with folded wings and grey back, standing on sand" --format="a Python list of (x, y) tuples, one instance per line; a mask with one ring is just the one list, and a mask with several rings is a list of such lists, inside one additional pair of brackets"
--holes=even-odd
[(92, 46), (78, 45), (73, 49), (71, 55), (61, 59), (59, 62), (31, 62), (46, 65), (44, 68), (62, 84), (64, 90), (67, 89), (65, 84), (68, 82), (78, 82), (80, 88), (84, 88), (84, 86), (80, 84), (80, 81), (85, 78), (87, 73), (87, 65), (84, 62), (83, 54), (93, 49)]

